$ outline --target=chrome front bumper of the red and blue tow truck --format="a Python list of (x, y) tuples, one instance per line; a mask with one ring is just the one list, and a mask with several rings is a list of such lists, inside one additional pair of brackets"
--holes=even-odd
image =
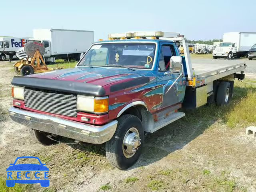
[(117, 120), (102, 126), (95, 126), (15, 107), (9, 109), (9, 114), (15, 122), (29, 126), (32, 129), (92, 144), (102, 144), (110, 140), (117, 127)]

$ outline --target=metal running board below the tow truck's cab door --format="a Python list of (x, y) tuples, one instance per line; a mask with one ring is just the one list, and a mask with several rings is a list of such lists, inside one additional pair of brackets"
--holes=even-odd
[(166, 126), (184, 116), (185, 116), (185, 113), (182, 113), (182, 112), (172, 113), (169, 116), (162, 118), (159, 121), (154, 122), (154, 128), (152, 131), (150, 130), (149, 132), (153, 133), (153, 132), (157, 131), (158, 129), (163, 128), (164, 126)]

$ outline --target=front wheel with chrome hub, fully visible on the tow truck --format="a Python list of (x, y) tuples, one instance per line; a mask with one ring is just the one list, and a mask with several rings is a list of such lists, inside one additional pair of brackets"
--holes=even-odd
[(144, 130), (141, 120), (134, 115), (118, 118), (114, 136), (106, 142), (106, 156), (110, 164), (125, 170), (140, 157), (144, 142)]

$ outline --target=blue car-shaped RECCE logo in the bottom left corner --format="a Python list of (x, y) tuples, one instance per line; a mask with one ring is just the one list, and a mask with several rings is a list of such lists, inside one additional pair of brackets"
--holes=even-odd
[[(33, 158), (37, 159), (40, 164), (16, 164), (18, 159), (26, 159), (26, 158)], [(25, 183), (25, 184), (34, 184), (40, 183), (42, 187), (48, 187), (50, 185), (50, 180), (48, 179), (48, 171), (49, 169), (46, 167), (46, 164), (43, 164), (38, 157), (33, 156), (23, 156), (18, 157), (14, 161), (14, 163), (10, 164), (10, 166), (6, 169), (7, 171), (7, 179), (6, 179), (6, 186), (7, 187), (14, 187), (16, 183)], [(17, 172), (17, 179), (12, 179), (12, 171)], [(26, 171), (25, 177), (26, 179), (21, 179), (21, 171)], [(30, 171), (36, 171), (34, 176), (36, 179), (30, 179)], [(40, 171), (44, 172), (44, 179), (40, 179), (37, 174), (40, 174)]]

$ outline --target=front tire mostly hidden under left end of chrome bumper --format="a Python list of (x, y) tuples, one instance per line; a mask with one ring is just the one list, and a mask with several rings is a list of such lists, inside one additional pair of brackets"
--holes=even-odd
[(56, 141), (47, 137), (48, 134), (46, 132), (29, 128), (29, 134), (34, 142), (37, 142), (41, 145), (52, 145), (56, 143)]

